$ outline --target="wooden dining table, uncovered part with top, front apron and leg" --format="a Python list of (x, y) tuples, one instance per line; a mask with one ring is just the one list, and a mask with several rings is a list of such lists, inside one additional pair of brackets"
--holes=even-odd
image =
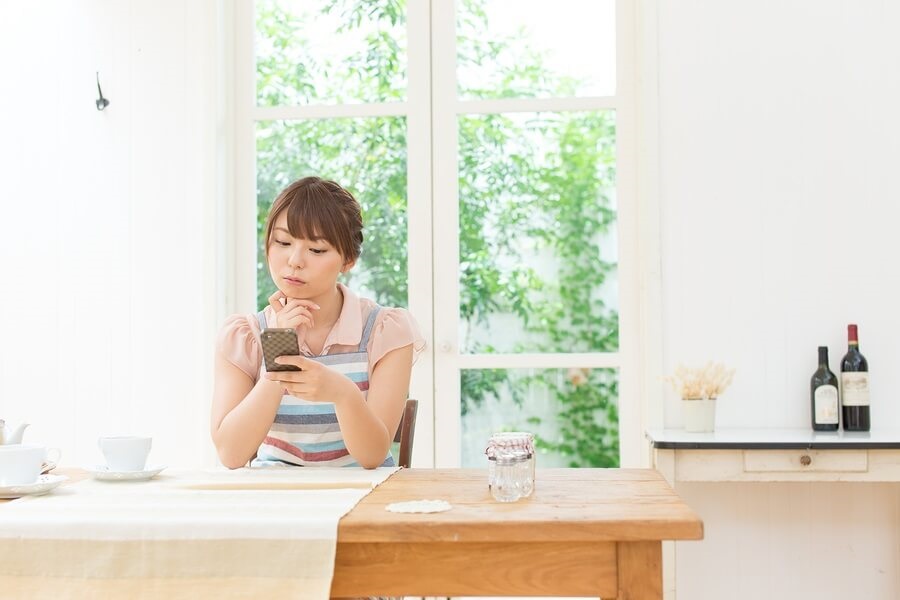
[[(535, 481), (530, 497), (500, 503), (484, 470), (395, 473), (340, 520), (331, 595), (660, 600), (662, 542), (703, 537), (654, 470), (538, 469)], [(452, 508), (385, 510), (422, 499)]]

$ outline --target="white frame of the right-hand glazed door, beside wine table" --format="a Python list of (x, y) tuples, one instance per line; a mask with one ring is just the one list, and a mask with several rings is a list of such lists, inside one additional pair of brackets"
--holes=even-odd
[[(638, 235), (636, 203), (635, 4), (616, 3), (616, 93), (612, 96), (549, 99), (460, 100), (456, 84), (456, 15), (453, 2), (434, 2), (434, 232), (435, 406), (441, 424), (435, 449), (439, 467), (460, 462), (460, 371), (462, 369), (615, 368), (619, 372), (619, 440), (623, 466), (642, 459), (638, 372)], [(548, 5), (548, 10), (552, 7)], [(619, 351), (573, 354), (459, 353), (459, 115), (536, 111), (616, 111)]]

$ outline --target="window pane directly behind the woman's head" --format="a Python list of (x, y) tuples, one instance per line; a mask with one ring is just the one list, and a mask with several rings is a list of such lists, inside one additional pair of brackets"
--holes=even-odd
[(385, 306), (407, 306), (406, 119), (267, 121), (256, 140), (259, 307), (275, 291), (263, 247), (269, 207), (308, 175), (337, 181), (362, 205), (362, 255), (340, 281)]

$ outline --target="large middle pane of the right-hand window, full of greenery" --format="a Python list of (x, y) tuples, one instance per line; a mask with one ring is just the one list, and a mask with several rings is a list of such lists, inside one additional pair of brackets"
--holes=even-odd
[(459, 128), (462, 351), (618, 350), (614, 112)]

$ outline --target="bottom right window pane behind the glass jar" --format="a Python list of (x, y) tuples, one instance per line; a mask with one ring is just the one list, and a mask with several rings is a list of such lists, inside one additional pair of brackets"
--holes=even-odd
[(619, 466), (615, 369), (462, 372), (463, 467), (487, 466), (496, 431), (531, 431), (538, 467)]

